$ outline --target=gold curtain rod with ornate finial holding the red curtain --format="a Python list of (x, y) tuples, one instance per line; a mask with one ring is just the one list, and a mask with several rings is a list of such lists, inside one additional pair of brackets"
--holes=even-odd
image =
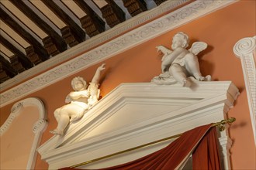
[[(230, 118), (222, 120), (220, 122), (213, 123), (212, 127), (217, 127), (217, 128), (219, 128), (219, 131), (224, 131), (225, 130), (225, 126), (224, 125), (225, 124), (233, 123), (234, 121), (236, 121), (236, 118), (230, 117)], [(160, 140), (152, 141), (152, 142), (149, 142), (149, 143), (144, 144), (144, 145), (140, 145), (140, 146), (137, 146), (137, 147), (134, 147), (134, 148), (129, 148), (129, 149), (126, 149), (126, 150), (123, 150), (123, 151), (118, 151), (116, 153), (113, 153), (113, 154), (110, 154), (110, 155), (106, 155), (106, 156), (102, 156), (100, 158), (95, 158), (95, 159), (92, 159), (90, 161), (82, 162), (82, 163), (77, 164), (77, 165), (72, 165), (70, 168), (76, 168), (78, 166), (87, 165), (87, 164), (92, 163), (92, 162), (97, 162), (97, 161), (100, 161), (100, 160), (105, 159), (105, 158), (110, 158), (112, 156), (116, 156), (116, 155), (120, 155), (120, 154), (126, 153), (127, 151), (133, 151), (133, 150), (136, 150), (136, 149), (139, 149), (139, 148), (144, 148), (144, 147), (147, 147), (147, 146), (150, 146), (150, 145), (154, 145), (154, 144), (160, 143), (162, 141), (168, 141), (168, 140), (170, 140), (172, 138), (178, 138), (181, 135), (182, 135), (182, 133), (181, 134), (175, 134), (175, 135), (170, 136), (168, 138), (162, 138)]]

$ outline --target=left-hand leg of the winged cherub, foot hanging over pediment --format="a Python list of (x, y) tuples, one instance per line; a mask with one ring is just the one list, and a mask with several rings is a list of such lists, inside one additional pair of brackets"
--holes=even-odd
[(191, 86), (191, 82), (187, 79), (187, 76), (185, 74), (185, 69), (182, 68), (182, 66), (178, 65), (177, 63), (172, 64), (170, 66), (169, 71), (171, 71), (172, 76), (174, 76), (175, 80), (181, 83), (183, 87)]

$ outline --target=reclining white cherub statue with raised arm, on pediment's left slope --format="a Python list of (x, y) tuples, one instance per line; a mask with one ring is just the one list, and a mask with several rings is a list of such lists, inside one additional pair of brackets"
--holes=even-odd
[(82, 77), (74, 77), (71, 81), (71, 86), (74, 91), (71, 91), (66, 97), (65, 102), (68, 104), (54, 111), (54, 117), (57, 120), (57, 128), (50, 131), (50, 133), (64, 134), (64, 130), (69, 123), (81, 119), (85, 112), (97, 103), (100, 93), (99, 77), (102, 70), (105, 69), (104, 66), (105, 63), (98, 67), (87, 89), (87, 83)]

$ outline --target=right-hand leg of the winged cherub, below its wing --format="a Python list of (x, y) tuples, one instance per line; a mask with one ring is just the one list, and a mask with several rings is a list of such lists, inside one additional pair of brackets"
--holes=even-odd
[(200, 72), (198, 58), (194, 54), (189, 53), (185, 56), (185, 67), (196, 80), (202, 81), (205, 79)]

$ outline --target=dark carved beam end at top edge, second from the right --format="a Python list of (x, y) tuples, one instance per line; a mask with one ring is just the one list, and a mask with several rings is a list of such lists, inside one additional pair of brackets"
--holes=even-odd
[(144, 0), (122, 0), (130, 15), (135, 16), (147, 11), (147, 4)]

